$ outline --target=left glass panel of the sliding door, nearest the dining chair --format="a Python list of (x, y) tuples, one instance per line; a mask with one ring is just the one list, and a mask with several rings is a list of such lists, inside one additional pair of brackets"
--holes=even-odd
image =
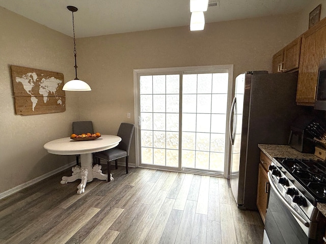
[(140, 76), (142, 164), (179, 167), (179, 75)]

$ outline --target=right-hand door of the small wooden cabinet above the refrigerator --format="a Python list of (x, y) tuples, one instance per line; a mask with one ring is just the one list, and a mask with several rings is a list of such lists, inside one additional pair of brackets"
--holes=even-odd
[(295, 39), (284, 48), (283, 72), (299, 68), (301, 39), (301, 37)]

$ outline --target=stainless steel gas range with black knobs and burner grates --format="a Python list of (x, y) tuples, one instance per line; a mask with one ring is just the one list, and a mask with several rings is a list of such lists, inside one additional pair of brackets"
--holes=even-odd
[(323, 243), (325, 223), (316, 205), (326, 203), (326, 163), (274, 158), (267, 175), (264, 243)]

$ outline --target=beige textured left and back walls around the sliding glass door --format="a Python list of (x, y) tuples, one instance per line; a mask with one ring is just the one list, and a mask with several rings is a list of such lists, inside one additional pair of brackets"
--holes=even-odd
[(301, 28), (294, 14), (209, 23), (203, 32), (184, 26), (77, 39), (78, 77), (92, 91), (66, 92), (63, 113), (21, 116), (14, 112), (9, 66), (61, 72), (68, 81), (74, 78), (72, 39), (4, 8), (0, 16), (0, 193), (73, 161), (43, 149), (68, 136), (72, 121), (93, 120), (102, 134), (117, 133), (122, 121), (133, 123), (133, 69), (234, 64), (234, 77), (270, 71), (271, 56)]

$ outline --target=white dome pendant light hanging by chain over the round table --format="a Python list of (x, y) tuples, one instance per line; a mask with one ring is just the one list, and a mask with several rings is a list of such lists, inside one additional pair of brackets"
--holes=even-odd
[(83, 91), (87, 91), (87, 90), (92, 90), (91, 87), (82, 80), (79, 80), (77, 78), (77, 62), (76, 62), (76, 42), (75, 42), (75, 25), (74, 25), (74, 19), (73, 19), (73, 12), (76, 12), (78, 9), (74, 6), (67, 6), (67, 9), (69, 11), (71, 11), (72, 13), (72, 31), (73, 31), (73, 53), (75, 56), (75, 74), (76, 77), (73, 80), (68, 81), (64, 86), (63, 86), (63, 90), (71, 90), (71, 91), (76, 91), (76, 92), (83, 92)]

